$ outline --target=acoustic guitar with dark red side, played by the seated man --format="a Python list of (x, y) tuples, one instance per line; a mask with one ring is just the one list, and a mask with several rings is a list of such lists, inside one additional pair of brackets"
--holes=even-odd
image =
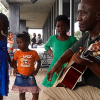
[[(92, 62), (88, 59), (88, 56), (96, 57), (100, 60), (100, 41), (96, 41), (86, 48), (81, 53), (81, 58)], [(56, 79), (53, 87), (67, 87), (69, 89), (74, 89), (80, 77), (86, 70), (86, 66), (79, 65), (73, 61), (73, 57), (69, 61), (68, 65), (60, 72), (59, 77)]]

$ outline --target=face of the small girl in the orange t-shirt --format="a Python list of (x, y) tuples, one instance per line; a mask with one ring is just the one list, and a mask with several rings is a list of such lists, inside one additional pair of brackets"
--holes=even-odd
[(17, 44), (18, 48), (22, 51), (26, 50), (28, 48), (27, 42), (24, 40), (23, 37), (17, 38)]

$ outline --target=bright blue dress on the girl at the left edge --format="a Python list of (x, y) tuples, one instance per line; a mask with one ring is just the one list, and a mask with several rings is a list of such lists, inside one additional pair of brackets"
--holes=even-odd
[(7, 39), (3, 36), (3, 40), (0, 40), (0, 96), (8, 95), (8, 85)]

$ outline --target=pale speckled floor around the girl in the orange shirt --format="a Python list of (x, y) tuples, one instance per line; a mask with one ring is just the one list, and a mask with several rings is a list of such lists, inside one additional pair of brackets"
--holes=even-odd
[[(38, 74), (36, 75), (37, 84), (41, 89), (45, 88), (42, 85), (42, 81), (43, 81), (46, 73), (47, 73), (47, 69), (42, 69), (42, 70), (40, 69)], [(11, 90), (12, 85), (14, 84), (14, 79), (15, 79), (15, 76), (11, 75), (10, 76), (10, 85), (9, 85), (9, 94), (8, 94), (8, 96), (4, 97), (4, 100), (19, 100), (19, 93)], [(26, 93), (26, 100), (32, 100), (31, 93)]]

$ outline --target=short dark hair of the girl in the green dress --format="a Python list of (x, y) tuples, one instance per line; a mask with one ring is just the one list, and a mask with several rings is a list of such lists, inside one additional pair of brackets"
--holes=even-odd
[(70, 22), (69, 22), (69, 19), (66, 15), (58, 15), (55, 19), (55, 26), (56, 26), (56, 23), (57, 21), (63, 21), (65, 22), (65, 24), (69, 27), (70, 26)]

